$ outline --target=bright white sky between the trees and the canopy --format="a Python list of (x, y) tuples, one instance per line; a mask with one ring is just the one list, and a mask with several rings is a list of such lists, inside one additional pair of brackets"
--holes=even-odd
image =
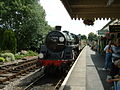
[(46, 21), (52, 27), (62, 26), (62, 30), (68, 30), (74, 34), (86, 35), (90, 32), (97, 34), (110, 20), (96, 20), (93, 26), (87, 26), (82, 20), (72, 20), (60, 0), (40, 0), (45, 9)]

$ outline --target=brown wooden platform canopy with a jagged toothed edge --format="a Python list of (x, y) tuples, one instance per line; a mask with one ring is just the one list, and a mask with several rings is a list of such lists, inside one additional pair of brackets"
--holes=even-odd
[(72, 19), (120, 19), (120, 0), (61, 0)]

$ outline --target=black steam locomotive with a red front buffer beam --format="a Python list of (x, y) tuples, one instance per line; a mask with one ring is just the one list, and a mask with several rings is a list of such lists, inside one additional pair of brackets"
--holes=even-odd
[(45, 45), (40, 48), (38, 61), (50, 68), (64, 69), (72, 63), (80, 51), (80, 38), (68, 31), (61, 31), (61, 26), (47, 34)]

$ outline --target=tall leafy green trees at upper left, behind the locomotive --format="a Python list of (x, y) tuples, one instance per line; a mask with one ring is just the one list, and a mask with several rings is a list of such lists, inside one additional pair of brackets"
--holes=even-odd
[(0, 25), (2, 29), (13, 29), (18, 51), (40, 47), (43, 35), (51, 27), (45, 21), (45, 10), (39, 0), (1, 0)]

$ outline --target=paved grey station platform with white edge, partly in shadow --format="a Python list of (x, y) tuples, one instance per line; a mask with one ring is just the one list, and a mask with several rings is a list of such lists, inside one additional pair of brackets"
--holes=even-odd
[(86, 46), (70, 69), (59, 90), (110, 90), (103, 70), (104, 55)]

